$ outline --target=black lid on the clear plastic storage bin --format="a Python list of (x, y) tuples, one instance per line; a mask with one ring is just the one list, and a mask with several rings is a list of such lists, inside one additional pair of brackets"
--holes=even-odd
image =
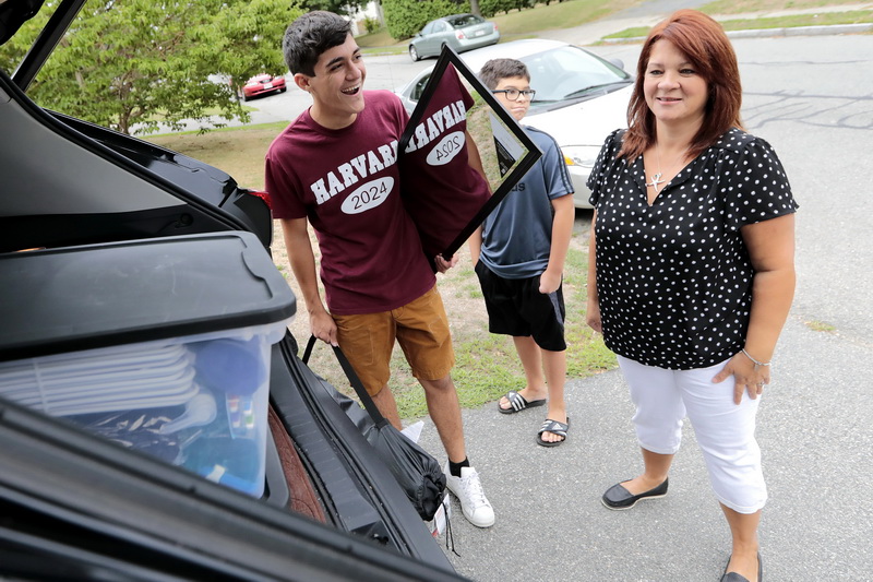
[(278, 323), (295, 310), (251, 233), (0, 254), (0, 361)]

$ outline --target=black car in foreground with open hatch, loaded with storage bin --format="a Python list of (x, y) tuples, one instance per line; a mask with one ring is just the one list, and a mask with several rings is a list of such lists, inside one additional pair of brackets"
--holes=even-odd
[(53, 12), (0, 69), (0, 580), (461, 580), (298, 357), (264, 198), (27, 96), (85, 1), (0, 2)]

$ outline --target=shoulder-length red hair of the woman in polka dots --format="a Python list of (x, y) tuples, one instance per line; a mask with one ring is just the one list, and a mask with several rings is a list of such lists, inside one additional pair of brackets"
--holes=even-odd
[(658, 40), (670, 41), (694, 64), (706, 81), (708, 98), (701, 129), (691, 141), (689, 155), (697, 156), (713, 145), (731, 128), (742, 128), (740, 106), (742, 86), (740, 68), (733, 47), (716, 21), (696, 10), (678, 10), (667, 20), (656, 24), (646, 37), (636, 64), (636, 82), (627, 105), (627, 131), (624, 134), (619, 156), (633, 162), (655, 143), (655, 116), (646, 104), (643, 93), (646, 68), (651, 57), (651, 47)]

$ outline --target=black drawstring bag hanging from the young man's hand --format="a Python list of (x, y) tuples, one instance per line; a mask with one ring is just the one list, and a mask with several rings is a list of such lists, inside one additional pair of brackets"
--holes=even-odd
[[(314, 344), (313, 335), (303, 352), (303, 364), (309, 361)], [(419, 516), (424, 521), (432, 520), (440, 509), (445, 491), (445, 475), (440, 463), (382, 416), (345, 354), (335, 346), (334, 354), (361, 404), (373, 419), (373, 425), (363, 430), (364, 439), (376, 450)]]

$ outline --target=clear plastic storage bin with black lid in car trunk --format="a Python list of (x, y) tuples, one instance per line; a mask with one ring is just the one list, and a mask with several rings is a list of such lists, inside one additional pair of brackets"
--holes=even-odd
[(263, 494), (295, 299), (253, 235), (4, 254), (0, 288), (1, 397)]

